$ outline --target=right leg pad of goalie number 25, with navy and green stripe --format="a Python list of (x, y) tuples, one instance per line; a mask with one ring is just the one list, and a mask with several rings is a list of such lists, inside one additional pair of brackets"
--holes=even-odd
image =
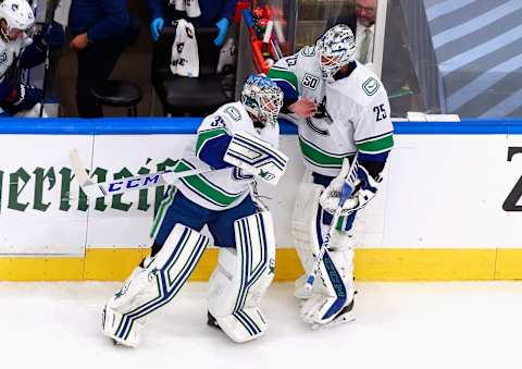
[(312, 297), (301, 308), (301, 318), (312, 328), (353, 320), (353, 236), (334, 231), (320, 265)]

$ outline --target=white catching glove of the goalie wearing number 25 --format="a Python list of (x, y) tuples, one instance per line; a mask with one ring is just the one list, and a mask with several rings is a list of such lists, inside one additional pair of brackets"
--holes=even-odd
[[(349, 180), (343, 176), (336, 176), (332, 180), (328, 187), (323, 190), (319, 202), (324, 210), (332, 214), (335, 212), (339, 206), (341, 188), (347, 181)], [(364, 208), (368, 202), (375, 197), (381, 181), (381, 177), (377, 180), (373, 179), (364, 167), (358, 165), (356, 183), (347, 183), (348, 185), (355, 187), (353, 194), (343, 205), (340, 216), (345, 217), (353, 211)]]

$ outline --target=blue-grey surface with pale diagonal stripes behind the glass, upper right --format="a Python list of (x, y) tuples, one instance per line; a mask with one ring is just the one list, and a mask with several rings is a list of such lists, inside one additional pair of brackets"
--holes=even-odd
[[(409, 12), (409, 1), (400, 2)], [(442, 81), (443, 111), (464, 118), (522, 116), (522, 1), (419, 2)]]

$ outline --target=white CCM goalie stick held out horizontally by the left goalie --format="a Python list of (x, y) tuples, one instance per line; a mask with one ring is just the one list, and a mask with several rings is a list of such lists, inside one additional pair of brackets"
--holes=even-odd
[(174, 172), (167, 170), (121, 180), (108, 181), (103, 183), (95, 183), (92, 182), (92, 180), (89, 179), (89, 174), (87, 174), (87, 171), (85, 170), (85, 167), (79, 159), (78, 150), (71, 150), (69, 157), (71, 159), (71, 165), (74, 175), (79, 182), (79, 186), (89, 198), (105, 197), (127, 193), (130, 190), (149, 188), (153, 186), (170, 185), (173, 184), (174, 181), (182, 177), (215, 171), (211, 168), (194, 169), (183, 172)]

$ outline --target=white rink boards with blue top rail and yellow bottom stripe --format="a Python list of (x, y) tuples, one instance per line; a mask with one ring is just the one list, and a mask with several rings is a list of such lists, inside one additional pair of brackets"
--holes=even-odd
[[(77, 148), (96, 181), (169, 168), (199, 119), (0, 122), (0, 280), (122, 280), (147, 255), (164, 188), (88, 204), (73, 177)], [(522, 121), (395, 122), (380, 196), (356, 224), (359, 280), (522, 279)], [(301, 273), (290, 217), (304, 172), (295, 128), (290, 165), (270, 197), (278, 280)], [(215, 266), (206, 251), (195, 280)]]

